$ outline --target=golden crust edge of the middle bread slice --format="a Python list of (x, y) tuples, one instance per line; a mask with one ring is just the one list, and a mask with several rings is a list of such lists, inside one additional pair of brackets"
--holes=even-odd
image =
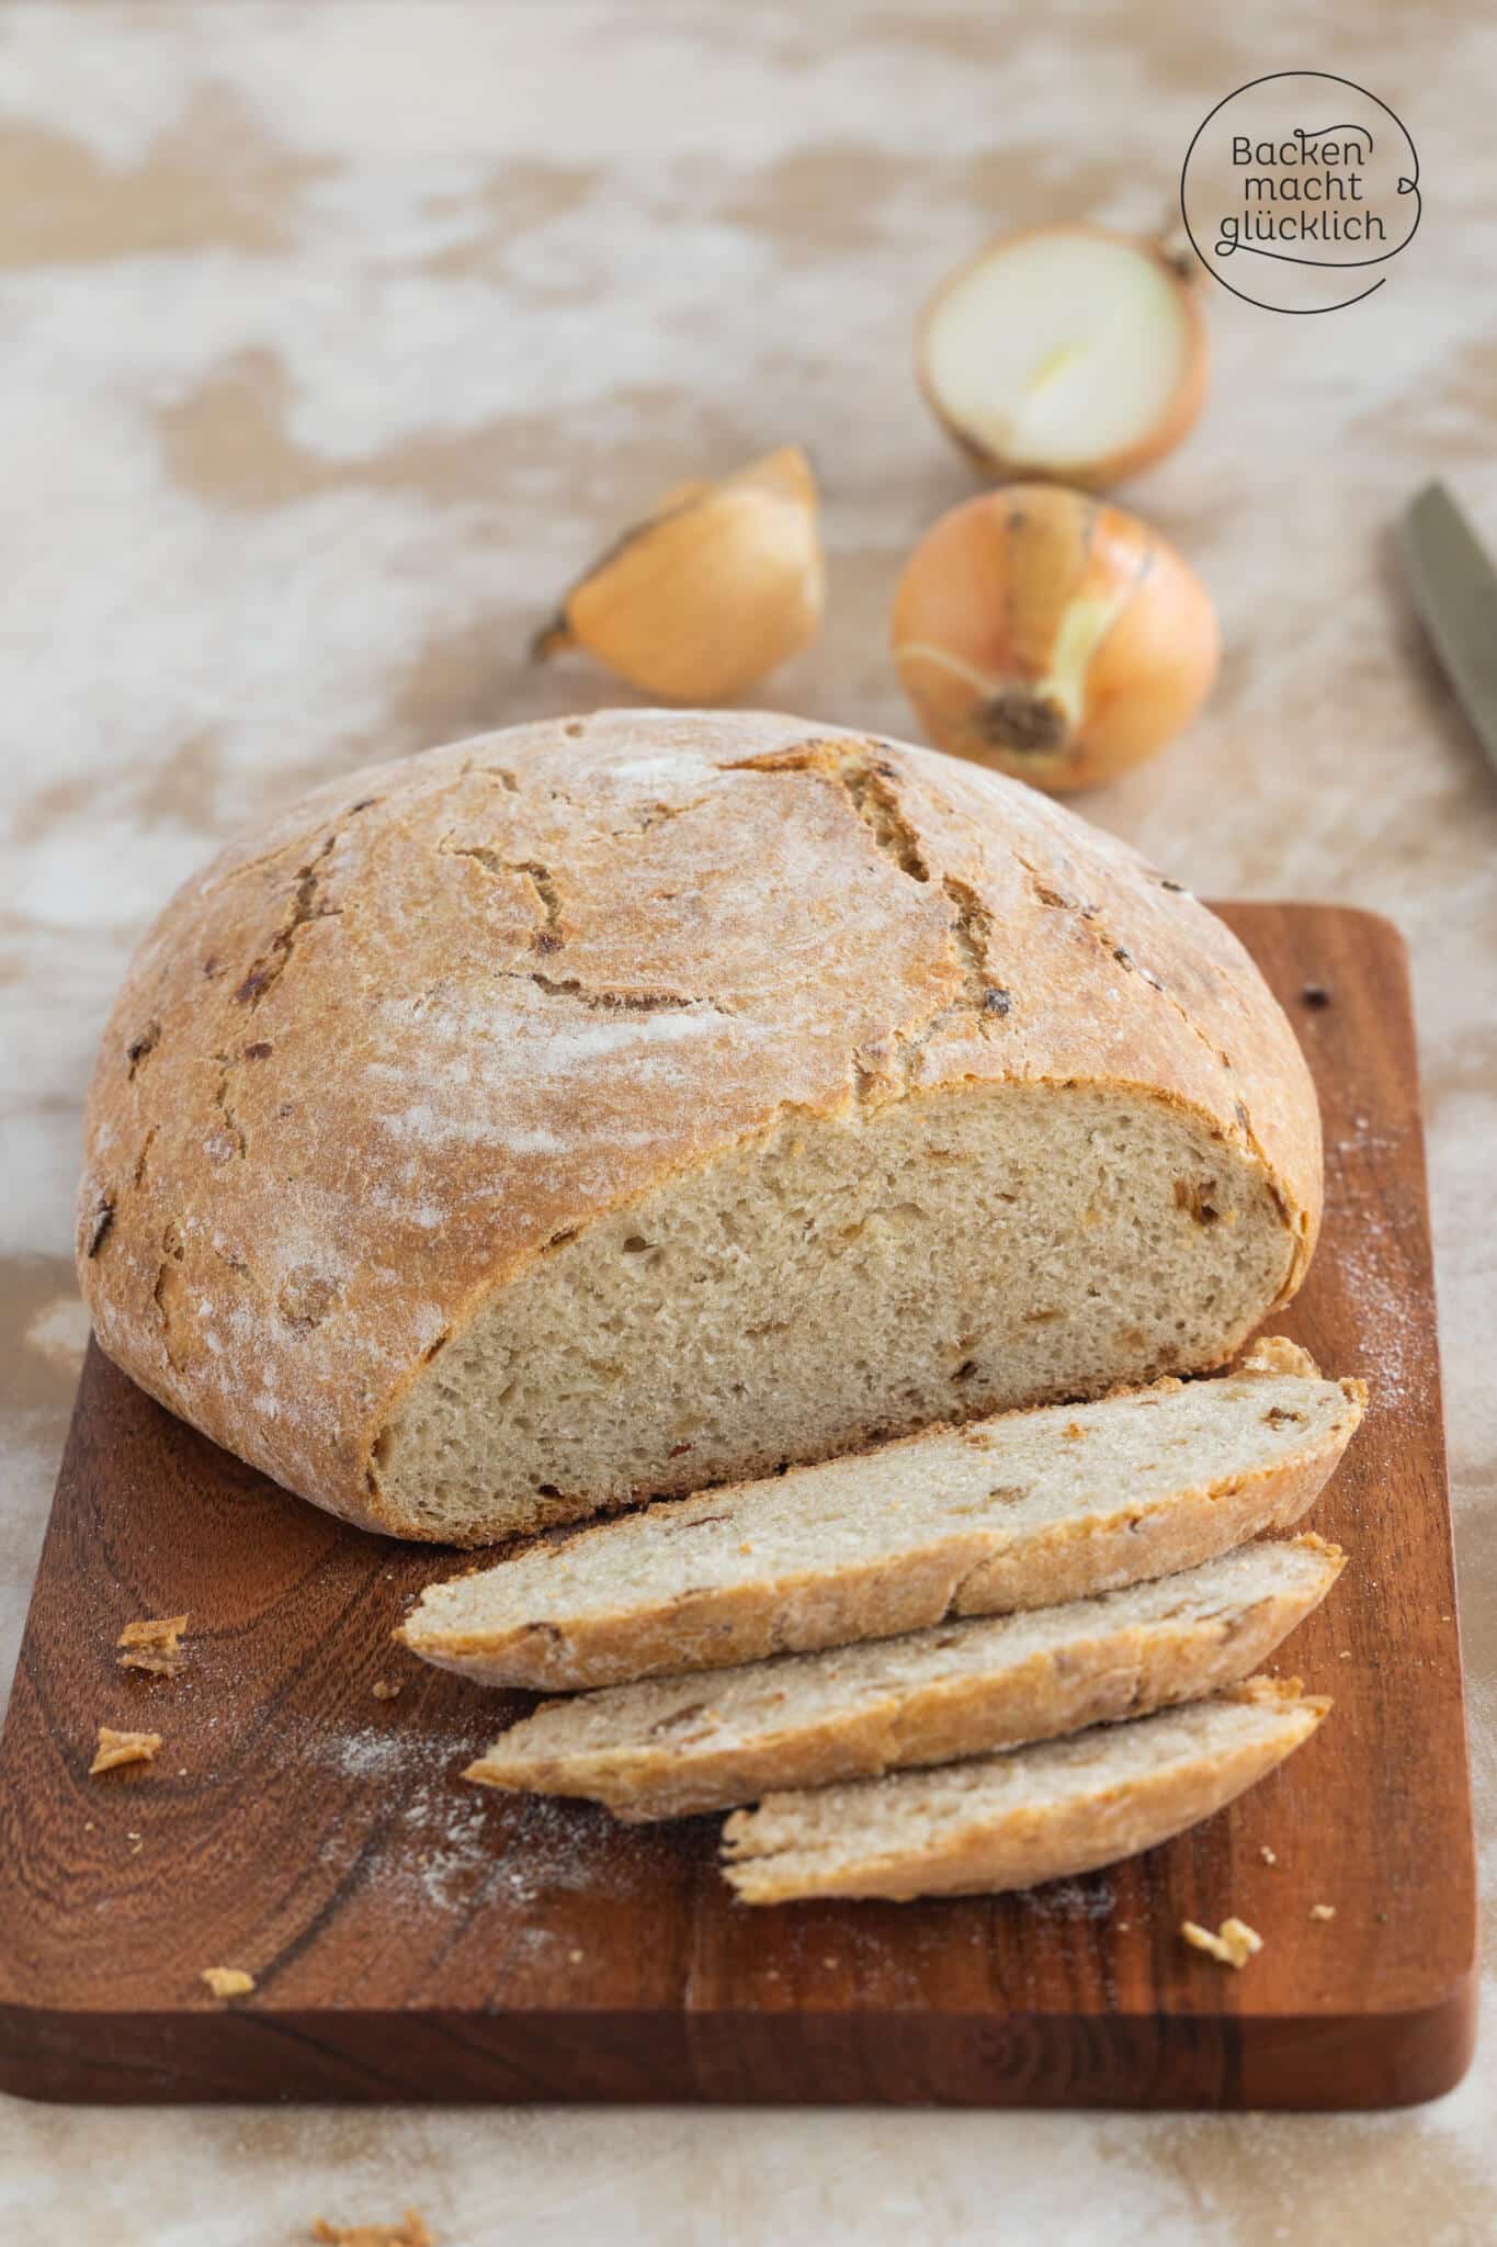
[[(756, 1737), (727, 1746), (716, 1746), (711, 1730), (694, 1732), (667, 1719), (662, 1739), (642, 1730), (626, 1746), (545, 1753), (532, 1746), (536, 1719), (552, 1710), (566, 1719), (577, 1710), (575, 1701), (545, 1701), (532, 1719), (500, 1732), (465, 1777), (509, 1793), (584, 1795), (604, 1802), (615, 1818), (640, 1822), (729, 1809), (770, 1791), (878, 1777), (909, 1764), (952, 1764), (1142, 1717), (1246, 1679), (1324, 1600), (1344, 1553), (1313, 1535), (1293, 1546), (1313, 1568), (1257, 1598), (1219, 1600), (1210, 1611), (1190, 1613), (1194, 1586), (1185, 1575), (1178, 1577), (1183, 1611), (1151, 1622), (1118, 1622), (1086, 1602), (1073, 1611), (1073, 1636), (1023, 1663), (994, 1645), (988, 1667), (913, 1685), (869, 1685), (855, 1703), (781, 1723), (765, 1719)], [(918, 1640), (909, 1645), (913, 1652)], [(770, 1687), (772, 1676), (763, 1683)], [(676, 1699), (711, 1710), (720, 1674), (702, 1672), (673, 1685)]]

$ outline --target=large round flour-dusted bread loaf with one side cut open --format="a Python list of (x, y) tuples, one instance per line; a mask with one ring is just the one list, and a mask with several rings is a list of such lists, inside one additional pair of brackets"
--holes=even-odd
[(478, 1544), (1228, 1359), (1320, 1124), (1237, 939), (1030, 789), (761, 712), (386, 764), (229, 847), (88, 1106), (108, 1355)]

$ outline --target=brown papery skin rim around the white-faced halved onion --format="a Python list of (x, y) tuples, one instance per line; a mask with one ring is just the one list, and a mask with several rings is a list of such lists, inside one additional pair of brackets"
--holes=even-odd
[[(1084, 240), (1115, 243), (1118, 247), (1147, 258), (1169, 283), (1172, 301), (1185, 328), (1183, 364), (1169, 404), (1151, 429), (1140, 434), (1131, 445), (1122, 445), (1102, 458), (1091, 458), (1086, 452), (1077, 452), (1071, 461), (1053, 456), (1039, 461), (1021, 452), (1003, 452), (979, 436), (979, 431), (965, 427), (963, 420), (949, 411), (938, 384), (931, 377), (929, 335), (947, 299), (992, 258), (1003, 256), (1003, 252), (1014, 249), (1021, 243), (1044, 240), (1046, 236), (1080, 236)], [(961, 447), (961, 452), (965, 452), (981, 474), (997, 483), (1005, 483), (1012, 476), (1059, 476), (1086, 492), (1102, 492), (1109, 485), (1122, 483), (1127, 476), (1136, 476), (1140, 470), (1151, 467), (1156, 461), (1163, 461), (1167, 452), (1174, 452), (1174, 447), (1190, 436), (1192, 427), (1201, 418), (1210, 386), (1210, 330), (1205, 326), (1205, 312), (1201, 310), (1194, 272), (1185, 270), (1160, 243), (1151, 243), (1133, 234), (1118, 234), (1111, 227), (1026, 227), (1017, 234), (999, 236), (976, 249), (970, 258), (963, 258), (963, 263), (949, 272), (927, 299), (916, 328), (916, 380), (927, 407), (945, 434)]]

